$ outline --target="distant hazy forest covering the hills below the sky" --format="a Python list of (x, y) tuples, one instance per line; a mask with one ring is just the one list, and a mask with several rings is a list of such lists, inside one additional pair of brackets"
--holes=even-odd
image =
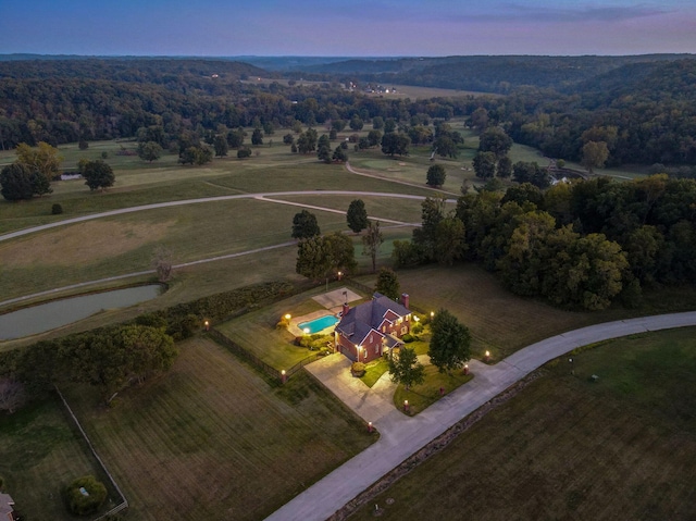
[[(514, 141), (539, 148), (550, 158), (580, 161), (588, 140), (604, 141), (608, 166), (657, 163), (662, 171), (693, 174), (696, 60), (692, 57), (423, 61), (420, 69), (413, 65), (419, 59), (313, 65), (324, 71), (315, 73), (322, 82), (302, 86), (294, 78), (306, 72), (284, 72), (290, 79), (283, 82), (278, 72), (229, 60), (0, 61), (0, 149), (21, 142), (128, 138), (148, 127), (157, 127), (160, 145), (167, 146), (184, 133), (202, 139), (207, 132), (240, 126), (263, 126), (268, 135), (295, 122), (314, 126), (382, 117), (408, 133), (427, 120), (470, 117), (478, 131), (500, 126)], [(360, 64), (382, 72), (380, 76), (353, 72)], [(385, 77), (459, 89), (475, 87), (465, 83), (475, 80), (490, 92), (500, 91), (502, 85), (508, 94), (410, 100), (361, 92), (364, 78), (399, 67), (407, 71)], [(433, 73), (437, 67), (440, 73)], [(424, 71), (431, 71), (427, 82), (422, 80)], [(276, 80), (247, 80), (257, 76)], [(457, 79), (464, 77), (465, 82)], [(348, 82), (357, 88), (347, 89)]]

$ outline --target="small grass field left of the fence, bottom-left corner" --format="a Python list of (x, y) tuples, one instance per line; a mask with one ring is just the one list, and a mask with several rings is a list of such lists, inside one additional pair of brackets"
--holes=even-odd
[[(90, 474), (108, 485), (62, 407), (58, 397), (52, 397), (14, 414), (0, 414), (3, 491), (29, 520), (84, 519), (67, 512), (63, 506), (63, 488), (73, 480)], [(112, 493), (107, 509), (119, 500)]]

